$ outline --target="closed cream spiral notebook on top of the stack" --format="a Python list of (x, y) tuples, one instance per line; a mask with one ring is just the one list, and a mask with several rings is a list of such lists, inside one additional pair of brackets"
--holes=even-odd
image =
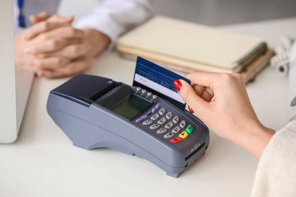
[(175, 70), (231, 73), (255, 62), (266, 53), (267, 46), (259, 37), (156, 16), (119, 37), (116, 49), (121, 54), (175, 66)]

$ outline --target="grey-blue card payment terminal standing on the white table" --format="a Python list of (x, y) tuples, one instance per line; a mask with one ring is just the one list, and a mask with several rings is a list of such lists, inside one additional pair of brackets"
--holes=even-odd
[(178, 177), (205, 153), (208, 128), (141, 87), (80, 74), (52, 90), (47, 112), (75, 146), (145, 158)]

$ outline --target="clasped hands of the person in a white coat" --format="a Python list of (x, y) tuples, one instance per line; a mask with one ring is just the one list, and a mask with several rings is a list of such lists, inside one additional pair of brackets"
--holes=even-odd
[(46, 12), (30, 16), (35, 25), (15, 35), (16, 68), (56, 78), (81, 73), (91, 66), (110, 39), (94, 29), (74, 29), (73, 19)]

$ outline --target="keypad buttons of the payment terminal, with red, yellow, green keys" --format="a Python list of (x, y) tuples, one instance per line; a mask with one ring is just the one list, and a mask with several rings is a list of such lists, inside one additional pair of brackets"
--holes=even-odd
[(148, 132), (154, 132), (162, 136), (163, 140), (169, 140), (175, 144), (190, 137), (193, 127), (190, 122), (186, 123), (185, 117), (178, 115), (174, 109), (166, 108), (165, 104), (157, 100), (156, 95), (149, 94), (145, 89), (140, 87), (132, 87), (132, 89), (153, 102), (153, 106), (147, 112), (136, 118), (136, 124), (145, 126)]

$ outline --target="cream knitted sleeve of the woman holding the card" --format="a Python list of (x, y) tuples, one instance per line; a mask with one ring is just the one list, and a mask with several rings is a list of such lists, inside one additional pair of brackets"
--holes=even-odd
[(264, 149), (251, 197), (296, 196), (296, 121), (277, 131)]

